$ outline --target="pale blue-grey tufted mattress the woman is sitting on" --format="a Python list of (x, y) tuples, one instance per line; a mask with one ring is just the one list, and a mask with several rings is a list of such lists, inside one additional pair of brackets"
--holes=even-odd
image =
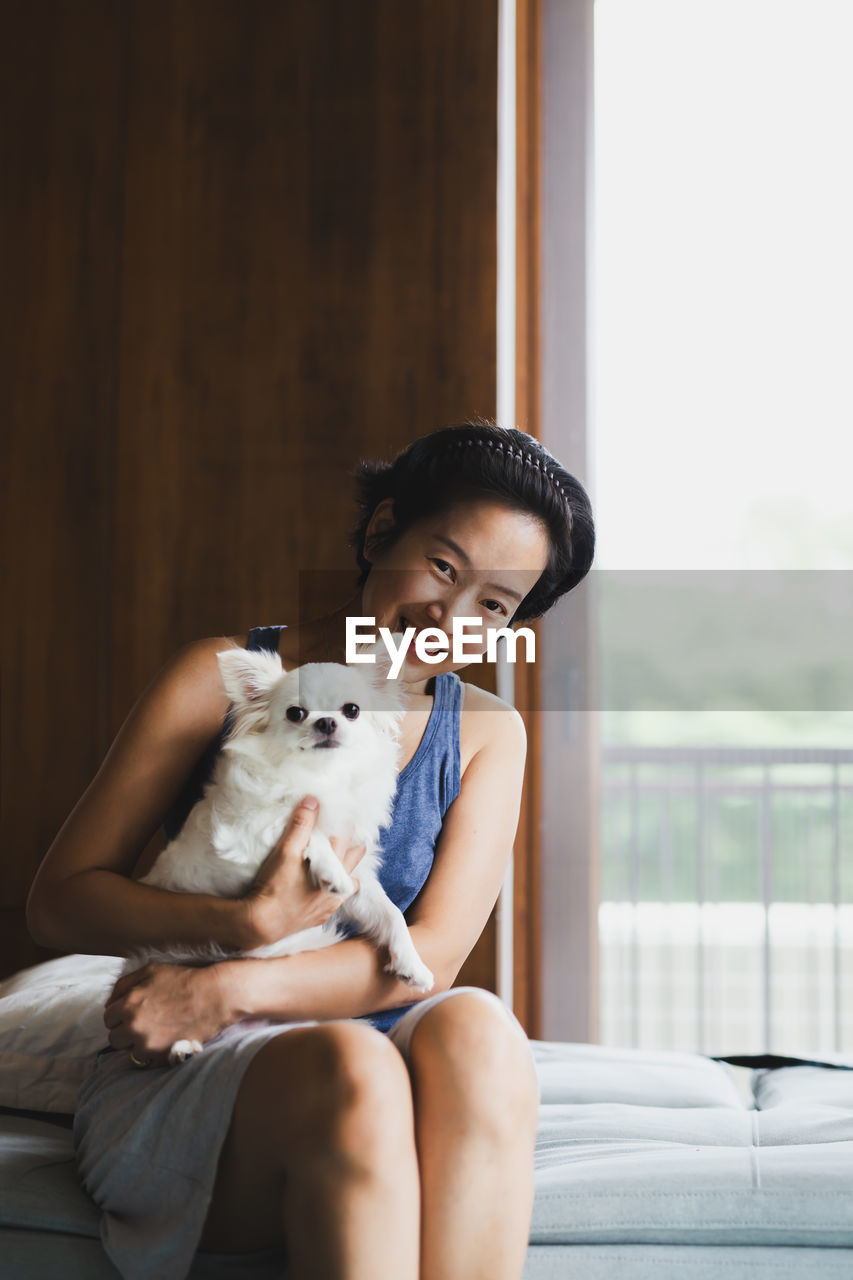
[[(853, 1275), (853, 1073), (533, 1042), (542, 1108), (526, 1280)], [(61, 1117), (0, 1115), (9, 1280), (117, 1280)], [(199, 1254), (192, 1280), (282, 1276)]]

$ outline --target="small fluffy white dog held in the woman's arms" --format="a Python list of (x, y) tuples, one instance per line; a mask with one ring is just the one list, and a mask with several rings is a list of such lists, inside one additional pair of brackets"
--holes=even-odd
[[(430, 991), (423, 963), (402, 913), (387, 897), (379, 869), (379, 829), (391, 819), (400, 758), (402, 695), (386, 680), (383, 664), (366, 671), (338, 663), (309, 663), (286, 672), (275, 653), (225, 650), (216, 655), (232, 700), (233, 726), (204, 796), (178, 836), (163, 850), (142, 883), (184, 893), (237, 897), (305, 795), (319, 800), (316, 824), (305, 850), (318, 887), (351, 893), (352, 881), (329, 836), (352, 832), (365, 845), (359, 892), (325, 925), (292, 933), (270, 946), (242, 952), (284, 956), (337, 942), (346, 918), (389, 952), (387, 972), (418, 991)], [(223, 959), (209, 948), (146, 950), (128, 961), (129, 973), (149, 960)], [(201, 1051), (197, 1041), (177, 1041), (169, 1061)]]

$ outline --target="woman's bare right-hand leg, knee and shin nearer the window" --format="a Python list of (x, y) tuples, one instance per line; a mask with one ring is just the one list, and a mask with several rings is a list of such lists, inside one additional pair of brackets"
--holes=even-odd
[(407, 1056), (421, 1280), (520, 1280), (539, 1105), (524, 1032), (496, 996), (459, 989), (423, 1014)]

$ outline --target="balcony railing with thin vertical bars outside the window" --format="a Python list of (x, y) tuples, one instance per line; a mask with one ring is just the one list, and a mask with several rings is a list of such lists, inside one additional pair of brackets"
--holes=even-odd
[(601, 1033), (853, 1048), (853, 750), (606, 748)]

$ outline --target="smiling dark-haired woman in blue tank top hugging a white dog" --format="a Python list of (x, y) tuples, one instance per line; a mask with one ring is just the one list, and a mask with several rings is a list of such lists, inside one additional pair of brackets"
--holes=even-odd
[[(544, 613), (592, 562), (587, 494), (516, 430), (451, 428), (392, 465), (364, 465), (360, 504), (359, 593), (329, 617), (233, 640), (277, 648), (292, 668), (343, 660), (351, 614), (447, 634), (455, 617), (478, 617), (485, 634)], [(240, 900), (131, 878), (164, 815), (174, 833), (201, 794), (228, 709), (215, 658), (227, 643), (181, 650), (131, 712), (33, 884), (40, 942), (128, 955), (213, 938), (240, 951), (339, 906), (301, 860), (311, 797)], [(197, 1247), (284, 1240), (293, 1280), (521, 1275), (530, 1053), (494, 996), (451, 984), (506, 872), (525, 741), (517, 713), (462, 686), (460, 666), (409, 652), (403, 764), (383, 841), (383, 883), (401, 909), (411, 904), (412, 940), (435, 974), (429, 996), (414, 1000), (361, 938), (272, 960), (146, 965), (117, 983), (76, 1143), (122, 1275), (179, 1280)], [(357, 882), (361, 850), (345, 844)], [(179, 1038), (205, 1050), (168, 1068)]]

